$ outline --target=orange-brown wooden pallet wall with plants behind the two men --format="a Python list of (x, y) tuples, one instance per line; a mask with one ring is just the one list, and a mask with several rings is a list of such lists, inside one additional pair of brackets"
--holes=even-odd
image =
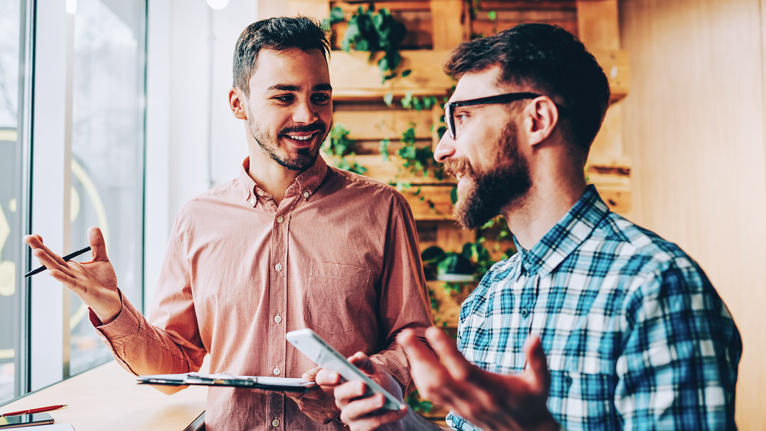
[[(400, 71), (411, 69), (408, 77), (397, 77), (381, 84), (381, 74), (375, 65), (377, 57), (368, 61), (365, 52), (337, 51), (340, 48), (345, 23), (333, 28), (330, 76), (335, 107), (334, 121), (350, 130), (349, 138), (358, 142), (358, 156), (348, 157), (368, 168), (366, 175), (385, 183), (399, 180), (414, 186), (403, 194), (413, 210), (421, 249), (438, 245), (445, 251), (460, 252), (463, 244), (476, 241), (476, 232), (460, 229), (451, 217), (450, 192), (454, 180), (413, 176), (401, 169), (401, 160), (394, 154), (401, 147), (401, 133), (415, 123), (417, 145), (435, 147), (438, 137), (431, 130), (438, 127), (440, 107), (431, 110), (404, 110), (399, 100), (407, 94), (418, 97), (435, 96), (439, 100), (450, 93), (455, 84), (442, 71), (442, 61), (449, 51), (462, 41), (476, 35), (493, 35), (525, 22), (559, 25), (578, 35), (597, 58), (610, 81), (611, 107), (604, 126), (596, 137), (586, 174), (596, 184), (607, 205), (615, 212), (628, 215), (631, 210), (630, 160), (624, 155), (622, 142), (622, 107), (630, 84), (628, 54), (620, 50), (617, 0), (557, 0), (557, 1), (494, 1), (482, 0), (409, 0), (397, 2), (337, 2), (328, 0), (283, 0), (269, 3), (260, 18), (276, 15), (301, 15), (325, 18), (331, 8), (340, 7), (346, 18), (360, 6), (373, 3), (376, 9), (388, 8), (391, 14), (408, 28)], [(259, 3), (259, 12), (260, 9)], [(489, 12), (494, 12), (494, 19)], [(383, 102), (391, 93), (392, 107)], [(436, 127), (434, 127), (435, 129)], [(379, 153), (379, 142), (390, 140), (391, 160)], [(424, 199), (424, 196), (427, 199)], [(512, 243), (499, 244), (493, 257), (499, 258)], [(493, 244), (489, 245), (493, 248)], [(437, 324), (454, 330), (460, 304), (473, 285), (460, 292), (446, 291), (442, 281), (429, 281), (428, 286), (437, 304), (434, 312)], [(430, 416), (444, 417), (438, 407)]]

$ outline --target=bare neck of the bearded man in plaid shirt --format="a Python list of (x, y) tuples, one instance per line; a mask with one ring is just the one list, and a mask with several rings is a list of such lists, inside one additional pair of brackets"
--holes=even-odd
[(584, 178), (533, 181), (532, 188), (503, 209), (508, 229), (526, 250), (537, 244), (582, 197), (588, 186)]

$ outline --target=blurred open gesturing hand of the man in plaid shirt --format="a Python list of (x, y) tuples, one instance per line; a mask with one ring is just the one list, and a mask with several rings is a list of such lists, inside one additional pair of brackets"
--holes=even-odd
[(402, 331), (397, 337), (424, 399), (487, 430), (558, 429), (546, 405), (551, 376), (538, 337), (527, 344), (528, 366), (516, 375), (489, 373), (470, 364), (455, 342), (436, 327), (428, 328), (426, 338), (438, 359), (414, 331)]

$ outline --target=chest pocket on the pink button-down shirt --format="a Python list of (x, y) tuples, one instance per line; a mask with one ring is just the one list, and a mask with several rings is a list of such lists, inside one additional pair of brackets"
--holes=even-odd
[(359, 311), (370, 301), (370, 274), (367, 268), (312, 262), (304, 313), (309, 327), (319, 335), (357, 329)]

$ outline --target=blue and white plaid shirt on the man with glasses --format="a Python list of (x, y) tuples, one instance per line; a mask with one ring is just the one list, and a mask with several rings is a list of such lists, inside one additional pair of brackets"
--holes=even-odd
[[(594, 186), (531, 250), (498, 262), (460, 308), (458, 348), (519, 373), (529, 334), (564, 429), (736, 429), (742, 344), (705, 273), (677, 245), (610, 212)], [(450, 412), (455, 429), (477, 429)]]

